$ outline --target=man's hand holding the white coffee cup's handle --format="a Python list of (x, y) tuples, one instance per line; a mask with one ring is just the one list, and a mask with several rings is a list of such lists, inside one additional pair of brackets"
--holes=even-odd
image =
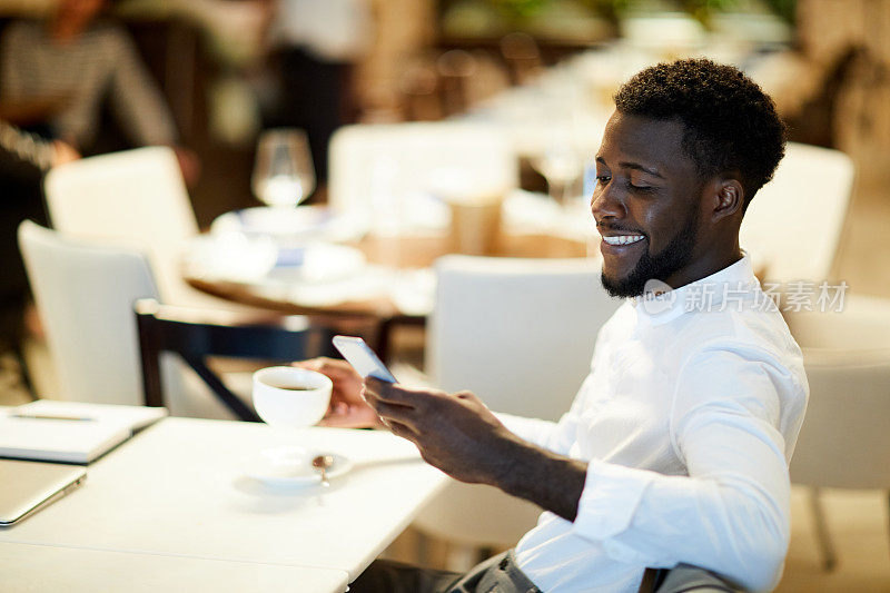
[(367, 428), (380, 424), (377, 413), (362, 397), (362, 375), (349, 363), (320, 357), (294, 363), (294, 366), (322, 373), (334, 383), (330, 406), (320, 426)]

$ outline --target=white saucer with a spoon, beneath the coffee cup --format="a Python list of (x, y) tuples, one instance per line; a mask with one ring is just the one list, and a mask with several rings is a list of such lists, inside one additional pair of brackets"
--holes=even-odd
[(353, 468), (353, 462), (337, 453), (307, 449), (297, 446), (265, 448), (250, 459), (246, 474), (269, 486), (312, 486), (322, 483), (322, 473), (313, 467), (317, 455), (330, 455), (334, 463), (327, 478), (336, 480)]

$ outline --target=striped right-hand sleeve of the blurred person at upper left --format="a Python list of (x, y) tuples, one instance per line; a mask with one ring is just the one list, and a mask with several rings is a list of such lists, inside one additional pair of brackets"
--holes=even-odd
[(140, 146), (174, 145), (172, 116), (132, 41), (118, 29), (109, 36), (115, 46), (109, 98), (121, 128)]

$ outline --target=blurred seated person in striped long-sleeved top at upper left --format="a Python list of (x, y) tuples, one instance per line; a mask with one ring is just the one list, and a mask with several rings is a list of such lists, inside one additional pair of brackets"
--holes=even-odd
[(42, 118), (31, 121), (36, 131), (90, 154), (108, 102), (134, 146), (175, 147), (191, 184), (196, 157), (177, 147), (172, 116), (130, 36), (99, 19), (108, 7), (107, 0), (58, 0), (42, 21), (9, 24), (0, 39), (0, 103), (11, 111), (41, 106)]

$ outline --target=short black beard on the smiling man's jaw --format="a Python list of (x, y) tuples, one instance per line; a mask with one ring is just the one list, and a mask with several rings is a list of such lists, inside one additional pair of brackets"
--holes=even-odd
[(600, 280), (603, 283), (603, 288), (612, 297), (626, 298), (642, 295), (646, 281), (651, 279), (664, 281), (689, 264), (696, 237), (696, 211), (692, 209), (686, 216), (683, 228), (661, 253), (651, 255), (646, 249), (624, 278), (610, 278), (602, 273)]

